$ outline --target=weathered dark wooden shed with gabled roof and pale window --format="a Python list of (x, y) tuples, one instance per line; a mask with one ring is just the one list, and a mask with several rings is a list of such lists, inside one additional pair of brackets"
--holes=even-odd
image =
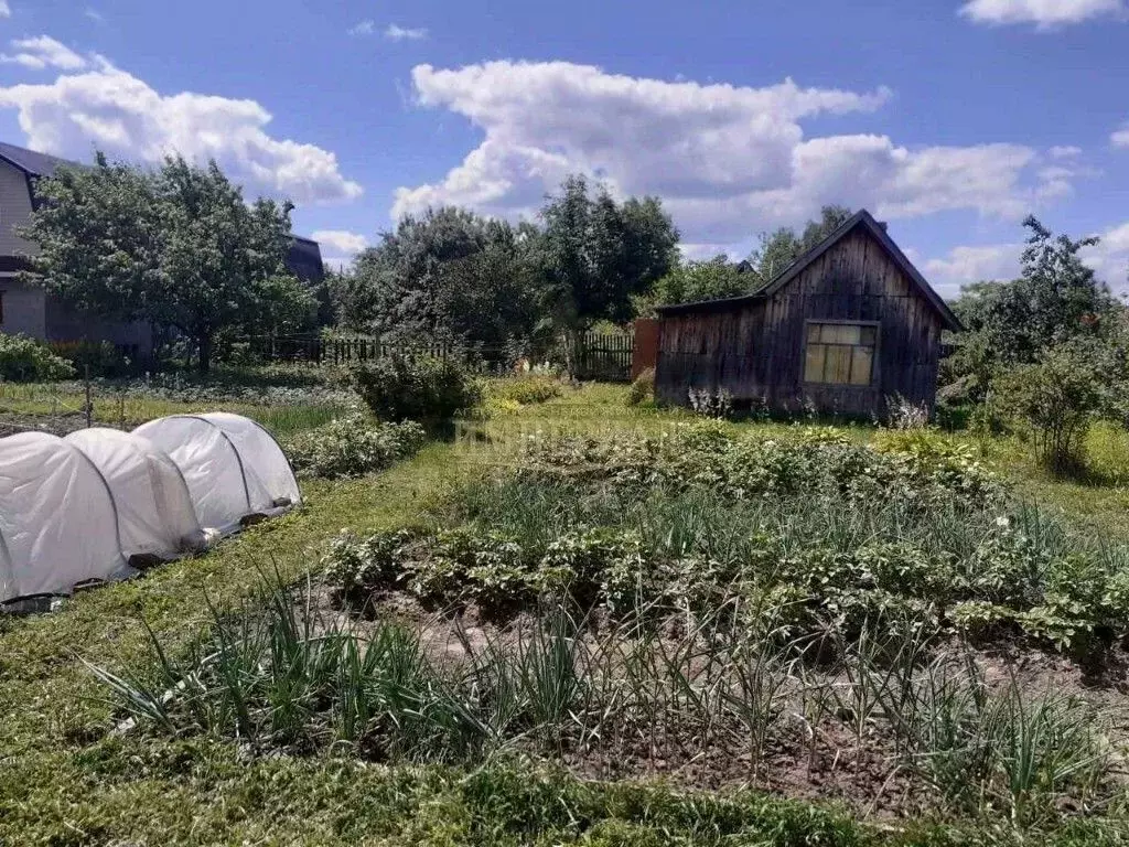
[(657, 311), (657, 399), (725, 391), (779, 412), (933, 410), (942, 331), (961, 329), (865, 209), (754, 294)]

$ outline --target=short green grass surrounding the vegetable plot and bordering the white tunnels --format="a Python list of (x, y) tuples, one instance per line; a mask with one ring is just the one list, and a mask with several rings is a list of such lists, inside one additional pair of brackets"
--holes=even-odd
[[(619, 386), (569, 390), (561, 398), (474, 426), (479, 437), (497, 442), (539, 429), (658, 431), (689, 419), (681, 412), (628, 409), (624, 391)], [(139, 417), (200, 408), (167, 402), (170, 405), (143, 407)], [(261, 407), (254, 410), (254, 417), (266, 413)], [(274, 426), (294, 431), (321, 413), (308, 412), (312, 417), (303, 419), (307, 412), (296, 412), (290, 422)], [(788, 429), (777, 424), (737, 426), (767, 433)], [(849, 433), (860, 440), (873, 435), (866, 427)], [(1118, 459), (1119, 444), (1123, 444), (1119, 437), (1095, 434), (1093, 455), (1123, 462)], [(507, 447), (497, 446), (504, 457)], [(1114, 486), (1048, 480), (1024, 463), (1021, 447), (1009, 443), (988, 444), (986, 454), (1041, 503), (1124, 536), (1123, 508), (1129, 504)], [(438, 509), (454, 487), (480, 473), (483, 461), (499, 456), (488, 451), (483, 457), (483, 452), (466, 443), (440, 444), (376, 477), (310, 481), (304, 487), (307, 504), (301, 510), (252, 527), (205, 557), (85, 593), (58, 614), (0, 621), (0, 714), (5, 716), (0, 722), (0, 844), (1017, 842), (1005, 820), (866, 824), (834, 807), (758, 792), (715, 794), (662, 783), (581, 780), (527, 761), (513, 750), (470, 765), (386, 766), (333, 750), (306, 757), (254, 757), (245, 746), (207, 732), (107, 734), (114, 723), (113, 707), (86, 663), (116, 675), (150, 663), (151, 641), (140, 625), (142, 619), (169, 656), (184, 656), (200, 643), (202, 632), (215, 629), (205, 599), (222, 613), (255, 597), (264, 571), (277, 569), (283, 582), (300, 582), (341, 529), (367, 533), (417, 521), (423, 510)], [(526, 675), (531, 682), (539, 674), (548, 680), (551, 671), (551, 665), (533, 663)], [(965, 714), (960, 709), (972, 708), (973, 682), (955, 676), (945, 689), (938, 678), (937, 696), (922, 696), (907, 722), (927, 709), (942, 709), (942, 704), (947, 704), (947, 714)], [(747, 684), (753, 690), (761, 683), (753, 674)], [(878, 699), (876, 693), (866, 697), (867, 702)], [(1053, 697), (1045, 702), (1040, 707), (1043, 711), (1034, 707), (1009, 711), (1005, 697), (973, 714), (984, 716), (980, 732), (1006, 728), (1013, 739), (1009, 743), (1023, 752), (1038, 749), (1039, 734), (1051, 725), (1048, 710), (1062, 732), (1077, 719), (1068, 704)], [(560, 702), (545, 698), (540, 708), (544, 714), (559, 714)], [(744, 708), (763, 707), (753, 702)], [(837, 706), (819, 697), (805, 705), (811, 715), (832, 708)], [(921, 742), (914, 741), (914, 733), (905, 737), (907, 767), (914, 762), (931, 767), (933, 759), (916, 756), (920, 748), (914, 745)], [(1032, 761), (1018, 754), (1009, 760)], [(1070, 769), (1075, 763), (1061, 760), (1048, 767)], [(1014, 778), (1022, 794), (1022, 768)], [(1008, 785), (1012, 779), (1009, 775)], [(1062, 847), (1129, 844), (1120, 815), (1120, 810), (1108, 809), (1100, 817), (1022, 840)]]

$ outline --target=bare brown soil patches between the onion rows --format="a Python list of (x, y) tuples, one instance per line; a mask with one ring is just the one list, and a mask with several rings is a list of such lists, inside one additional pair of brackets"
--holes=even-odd
[[(531, 622), (527, 615), (518, 615), (499, 623), (474, 608), (429, 611), (404, 594), (376, 599), (366, 614), (357, 615), (342, 609), (327, 587), (315, 585), (313, 592), (313, 609), (324, 626), (347, 625), (364, 635), (378, 619), (400, 620), (419, 632), (427, 652), (440, 663), (466, 662), (491, 644), (514, 643)], [(306, 602), (304, 599), (303, 604)], [(1061, 655), (1026, 645), (980, 648), (972, 655), (990, 684), (1006, 684), (1014, 674), (1034, 697), (1068, 693), (1100, 711), (1108, 724), (1113, 779), (1129, 779), (1124, 761), (1129, 750), (1129, 655), (1121, 648), (1096, 678)], [(837, 681), (829, 679), (831, 684)], [(558, 740), (551, 758), (587, 778), (662, 777), (688, 788), (755, 787), (782, 796), (837, 801), (858, 814), (879, 819), (919, 813), (935, 805), (931, 789), (899, 765), (890, 733), (883, 727), (867, 723), (859, 739), (848, 726), (849, 715), (828, 716), (813, 730), (799, 711), (798, 702), (786, 698), (760, 761), (747, 752), (753, 748), (742, 744), (738, 726), (711, 727), (712, 739), (726, 740), (719, 745), (703, 739), (700, 726), (630, 726), (628, 718), (614, 724), (611, 737), (598, 744)], [(545, 756), (544, 740), (526, 746), (532, 754)]]

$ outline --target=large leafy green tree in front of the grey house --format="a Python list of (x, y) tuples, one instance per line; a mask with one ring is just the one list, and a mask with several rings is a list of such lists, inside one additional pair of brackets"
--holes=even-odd
[(36, 186), (24, 230), (33, 278), (81, 308), (175, 328), (208, 370), (218, 333), (275, 331), (316, 302), (286, 271), (289, 203), (244, 202), (215, 161), (167, 158), (157, 172), (107, 163), (64, 167)]

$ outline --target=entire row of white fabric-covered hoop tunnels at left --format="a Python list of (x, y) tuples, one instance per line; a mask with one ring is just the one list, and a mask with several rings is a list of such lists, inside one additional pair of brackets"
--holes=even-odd
[(0, 438), (0, 603), (131, 576), (300, 500), (281, 447), (238, 414)]

